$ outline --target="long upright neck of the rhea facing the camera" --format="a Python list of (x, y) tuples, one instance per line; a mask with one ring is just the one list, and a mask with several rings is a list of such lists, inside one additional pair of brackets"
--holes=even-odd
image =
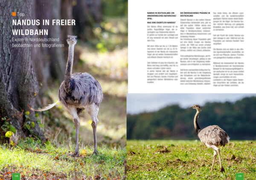
[(69, 45), (68, 47), (68, 59), (67, 59), (67, 66), (65, 72), (65, 87), (68, 89), (70, 86), (71, 74), (72, 74), (72, 67), (73, 67), (73, 59), (74, 59), (74, 47), (75, 45)]

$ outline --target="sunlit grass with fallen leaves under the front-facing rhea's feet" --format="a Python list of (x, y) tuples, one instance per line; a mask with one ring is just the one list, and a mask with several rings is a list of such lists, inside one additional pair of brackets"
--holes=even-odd
[(99, 145), (99, 155), (91, 156), (93, 147), (80, 147), (80, 157), (70, 157), (70, 146), (42, 146), (27, 139), (16, 147), (0, 146), (0, 180), (11, 179), (20, 173), (21, 179), (122, 179), (125, 149)]

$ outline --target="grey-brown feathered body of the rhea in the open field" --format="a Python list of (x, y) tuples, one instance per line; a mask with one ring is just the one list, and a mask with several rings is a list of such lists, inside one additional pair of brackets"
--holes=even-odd
[(224, 146), (229, 142), (229, 136), (220, 127), (213, 125), (202, 129), (198, 137), (204, 144)]

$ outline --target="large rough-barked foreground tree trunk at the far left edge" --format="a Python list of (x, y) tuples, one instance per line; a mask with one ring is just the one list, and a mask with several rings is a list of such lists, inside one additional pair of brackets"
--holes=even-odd
[[(25, 17), (13, 17), (12, 12), (22, 12)], [(31, 64), (30, 48), (14, 48), (12, 44), (12, 29), (25, 29), (13, 26), (12, 19), (31, 19), (32, 0), (1, 0), (0, 3), (0, 118), (9, 119), (17, 130), (17, 134), (24, 137), (33, 133), (44, 142), (46, 139), (36, 121), (35, 113), (30, 112), (29, 121), (35, 123), (32, 132), (23, 128), (27, 105), (34, 106), (38, 93), (38, 82)], [(29, 38), (29, 36), (26, 36)], [(23, 38), (20, 35), (15, 38)], [(22, 42), (17, 42), (22, 43)], [(4, 121), (0, 121), (0, 125)], [(2, 132), (3, 133), (3, 132)], [(3, 134), (2, 134), (3, 135)]]

